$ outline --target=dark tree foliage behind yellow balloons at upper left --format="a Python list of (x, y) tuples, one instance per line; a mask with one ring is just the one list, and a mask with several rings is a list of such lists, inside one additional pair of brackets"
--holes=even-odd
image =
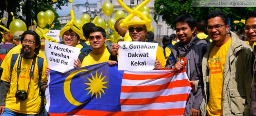
[[(57, 18), (59, 17), (59, 15), (56, 13), (56, 10), (57, 9), (61, 9), (61, 6), (64, 6), (64, 5), (68, 5), (68, 0), (57, 0), (55, 3), (53, 3), (52, 0), (30, 0), (31, 1), (31, 13), (30, 15), (31, 16), (26, 16), (26, 11), (28, 9), (26, 9), (26, 1), (24, 2), (24, 0), (1, 0), (1, 4), (0, 4), (0, 12), (1, 12), (1, 15), (0, 15), (0, 19), (3, 18), (3, 13), (4, 13), (4, 10), (7, 11), (9, 13), (9, 16), (8, 16), (8, 24), (7, 24), (7, 27), (9, 27), (11, 21), (12, 21), (12, 16), (11, 16), (11, 12), (14, 13), (14, 16), (15, 16), (15, 19), (21, 19), (23, 20), (24, 22), (26, 22), (26, 20), (35, 20), (37, 19), (37, 13), (39, 11), (46, 11), (46, 10), (51, 10), (54, 12), (55, 14), (55, 19), (53, 21), (53, 24), (54, 24), (54, 28), (53, 29), (60, 29), (60, 23), (58, 22)], [(37, 7), (35, 5), (35, 3), (37, 2)], [(54, 8), (53, 8), (54, 6)], [(22, 8), (20, 8), (22, 7)], [(21, 11), (22, 9), (22, 13), (23, 13), (23, 16), (22, 15), (18, 15), (18, 12)], [(31, 17), (31, 19), (23, 19), (23, 17)], [(31, 24), (26, 24), (27, 27), (28, 26), (31, 26)], [(46, 26), (46, 28), (49, 28), (49, 25)], [(0, 31), (2, 31), (0, 29)]]

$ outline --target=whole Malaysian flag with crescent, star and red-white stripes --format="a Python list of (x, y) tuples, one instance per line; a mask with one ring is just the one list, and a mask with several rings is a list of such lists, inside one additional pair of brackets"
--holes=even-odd
[(117, 71), (107, 62), (47, 78), (51, 116), (183, 116), (191, 90), (185, 71)]

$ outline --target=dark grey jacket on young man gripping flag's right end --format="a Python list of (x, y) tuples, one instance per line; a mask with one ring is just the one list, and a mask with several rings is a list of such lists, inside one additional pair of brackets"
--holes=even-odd
[[(196, 42), (197, 41), (197, 42)], [(190, 92), (190, 95), (188, 97), (188, 101), (186, 104), (185, 109), (185, 116), (189, 116), (191, 109), (197, 109), (200, 110), (200, 105), (202, 102), (202, 86), (200, 83), (200, 78), (202, 79), (202, 70), (201, 70), (201, 62), (203, 55), (206, 52), (206, 46), (207, 41), (201, 40), (197, 37), (194, 37), (187, 45), (183, 45), (181, 42), (177, 42), (172, 48), (171, 48), (171, 54), (174, 59), (173, 63), (169, 62), (169, 58), (166, 62), (165, 68), (171, 68), (179, 58), (179, 54), (181, 56), (184, 56), (185, 52), (188, 51), (187, 55), (184, 57), (187, 59), (186, 64), (186, 72), (188, 75), (188, 79), (190, 81), (195, 81), (195, 91)], [(169, 57), (170, 57), (169, 56)], [(198, 86), (197, 86), (198, 83)]]

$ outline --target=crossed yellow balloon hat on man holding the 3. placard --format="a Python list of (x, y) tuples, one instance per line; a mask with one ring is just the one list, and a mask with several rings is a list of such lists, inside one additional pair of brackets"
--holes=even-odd
[[(120, 4), (121, 7), (123, 7), (126, 11), (128, 11), (130, 14), (120, 20), (120, 27), (124, 27), (126, 29), (128, 29), (128, 26), (130, 25), (136, 25), (136, 24), (141, 24), (141, 25), (146, 25), (147, 26), (147, 30), (150, 29), (151, 27), (151, 19), (148, 19), (148, 16), (144, 15), (143, 12), (139, 11), (140, 9), (142, 9), (148, 2), (150, 2), (150, 0), (144, 0), (141, 4), (138, 4), (134, 10), (132, 10), (131, 8), (129, 8), (128, 6), (126, 6), (126, 4), (124, 4), (124, 2), (122, 0), (117, 0), (117, 2)], [(143, 11), (146, 11), (147, 8), (143, 8)], [(138, 16), (140, 19), (142, 20), (132, 20), (130, 21), (134, 16)]]

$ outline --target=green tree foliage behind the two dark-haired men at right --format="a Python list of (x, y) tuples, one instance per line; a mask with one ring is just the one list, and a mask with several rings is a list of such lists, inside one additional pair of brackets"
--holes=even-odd
[(234, 20), (245, 19), (245, 16), (255, 11), (256, 7), (192, 7), (192, 0), (155, 0), (154, 1), (154, 20), (158, 22), (158, 16), (166, 22), (172, 29), (175, 28), (173, 20), (183, 14), (192, 15), (195, 20), (204, 19), (207, 21), (207, 15), (212, 10), (221, 10), (230, 19), (230, 24), (233, 31), (243, 33), (244, 24), (233, 23)]

